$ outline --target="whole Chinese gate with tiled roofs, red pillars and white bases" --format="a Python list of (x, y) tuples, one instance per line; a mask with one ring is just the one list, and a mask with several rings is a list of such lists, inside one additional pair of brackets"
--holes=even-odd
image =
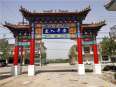
[[(42, 39), (71, 39), (77, 42), (77, 62), (78, 73), (85, 74), (85, 67), (83, 64), (82, 47), (89, 45), (93, 49), (94, 57), (94, 72), (101, 74), (101, 65), (98, 56), (98, 49), (96, 44), (96, 36), (105, 21), (91, 24), (83, 24), (87, 14), (91, 11), (90, 7), (85, 8), (80, 12), (30, 12), (21, 7), (20, 12), (27, 23), (10, 24), (5, 23), (15, 37), (14, 59), (13, 59), (13, 74), (20, 73), (20, 65), (18, 65), (19, 50), (23, 49), (27, 42), (30, 50), (30, 61), (28, 65), (28, 76), (35, 75), (35, 41), (41, 47)], [(22, 37), (20, 37), (22, 36)], [(24, 36), (27, 38), (24, 39)]]

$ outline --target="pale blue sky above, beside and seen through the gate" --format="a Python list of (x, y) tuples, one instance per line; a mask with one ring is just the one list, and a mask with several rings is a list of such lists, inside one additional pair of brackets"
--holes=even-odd
[[(99, 31), (98, 37), (102, 38), (104, 36), (108, 36), (109, 29), (113, 25), (116, 24), (116, 12), (107, 11), (104, 8), (104, 4), (108, 0), (0, 0), (0, 23), (4, 23), (4, 21), (10, 23), (17, 23), (22, 21), (22, 15), (19, 12), (20, 6), (23, 6), (30, 11), (42, 11), (42, 10), (50, 10), (50, 9), (63, 9), (63, 10), (82, 10), (90, 5), (91, 11), (87, 15), (84, 23), (92, 23), (99, 22), (102, 20), (106, 21), (106, 26), (102, 27), (101, 31)], [(1, 28), (1, 27), (0, 27)], [(9, 30), (3, 29), (0, 31), (0, 38), (3, 37), (3, 33), (7, 33), (5, 37), (12, 37), (12, 34), (9, 34)], [(99, 42), (101, 39), (97, 39)], [(59, 40), (59, 45), (56, 44), (58, 40), (50, 41), (50, 43), (45, 43), (47, 47), (57, 49), (57, 47), (63, 47), (64, 45), (60, 44), (60, 42), (65, 43), (64, 52), (66, 49), (74, 43), (70, 40)], [(13, 42), (13, 40), (10, 40)], [(71, 43), (71, 44), (70, 44)], [(54, 47), (53, 47), (54, 46)], [(60, 49), (60, 48), (59, 48)], [(58, 52), (58, 51), (57, 51)], [(58, 54), (57, 52), (54, 52)], [(62, 51), (63, 52), (63, 51)], [(53, 52), (49, 52), (53, 53)], [(54, 55), (56, 55), (54, 54)], [(65, 56), (67, 52), (64, 53)]]

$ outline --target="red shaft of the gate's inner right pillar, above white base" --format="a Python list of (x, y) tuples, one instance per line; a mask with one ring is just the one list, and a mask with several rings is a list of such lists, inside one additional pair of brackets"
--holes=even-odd
[(82, 39), (80, 37), (77, 38), (77, 50), (78, 50), (78, 64), (83, 64), (83, 59), (82, 59)]

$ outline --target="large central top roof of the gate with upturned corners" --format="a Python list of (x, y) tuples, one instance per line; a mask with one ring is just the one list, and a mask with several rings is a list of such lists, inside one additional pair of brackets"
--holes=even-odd
[(19, 10), (22, 15), (26, 18), (26, 19), (30, 19), (33, 17), (38, 17), (38, 16), (80, 16), (81, 19), (85, 19), (86, 15), (89, 13), (90, 11), (90, 7), (85, 8), (84, 10), (80, 11), (80, 12), (66, 12), (66, 13), (36, 13), (36, 12), (30, 12), (28, 10), (26, 10), (25, 8), (21, 7), (21, 9)]

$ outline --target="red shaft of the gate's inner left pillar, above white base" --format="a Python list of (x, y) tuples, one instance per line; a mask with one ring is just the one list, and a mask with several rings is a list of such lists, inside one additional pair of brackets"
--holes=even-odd
[(30, 65), (34, 65), (35, 58), (35, 40), (30, 40)]

